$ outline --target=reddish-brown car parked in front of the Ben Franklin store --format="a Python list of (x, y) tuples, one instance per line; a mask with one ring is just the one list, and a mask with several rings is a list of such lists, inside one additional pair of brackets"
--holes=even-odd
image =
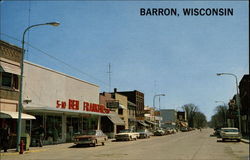
[(76, 145), (89, 144), (95, 147), (97, 144), (102, 144), (108, 140), (107, 135), (105, 135), (101, 130), (87, 130), (83, 131), (82, 134), (76, 135), (74, 137), (74, 143)]

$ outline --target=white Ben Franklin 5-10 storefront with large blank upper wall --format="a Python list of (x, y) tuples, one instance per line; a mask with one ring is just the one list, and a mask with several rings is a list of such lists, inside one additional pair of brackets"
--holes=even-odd
[(24, 112), (36, 117), (25, 124), (32, 143), (37, 128), (45, 129), (45, 144), (72, 141), (75, 134), (100, 129), (110, 110), (99, 105), (99, 87), (51, 69), (24, 63)]

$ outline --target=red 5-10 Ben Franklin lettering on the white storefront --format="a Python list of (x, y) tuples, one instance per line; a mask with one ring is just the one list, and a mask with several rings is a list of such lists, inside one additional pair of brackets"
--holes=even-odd
[(104, 105), (94, 104), (89, 102), (80, 103), (80, 101), (73, 99), (69, 99), (68, 102), (57, 100), (56, 108), (70, 109), (76, 111), (82, 110), (82, 111), (106, 113), (106, 114), (110, 112), (110, 109), (106, 108)]

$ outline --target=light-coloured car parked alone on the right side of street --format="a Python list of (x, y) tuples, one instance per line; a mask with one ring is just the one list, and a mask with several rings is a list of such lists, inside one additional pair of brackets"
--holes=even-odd
[(238, 142), (240, 142), (241, 139), (241, 134), (238, 128), (221, 128), (220, 136), (222, 138), (222, 141), (229, 139), (237, 140)]

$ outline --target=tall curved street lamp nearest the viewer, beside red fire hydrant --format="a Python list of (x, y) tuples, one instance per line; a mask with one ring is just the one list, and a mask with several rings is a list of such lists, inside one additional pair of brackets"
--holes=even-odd
[(22, 91), (23, 91), (23, 61), (24, 61), (24, 38), (25, 38), (25, 33), (37, 26), (42, 26), (42, 25), (51, 25), (51, 26), (59, 26), (60, 23), (58, 22), (49, 22), (49, 23), (42, 23), (42, 24), (35, 24), (32, 26), (27, 27), (24, 32), (23, 32), (23, 38), (22, 38), (22, 59), (21, 59), (21, 77), (20, 77), (20, 93), (19, 93), (19, 99), (18, 99), (18, 122), (17, 122), (17, 151), (19, 151), (19, 145), (20, 145), (20, 140), (21, 140), (21, 119), (22, 119), (22, 110), (23, 110), (23, 105), (22, 105)]

